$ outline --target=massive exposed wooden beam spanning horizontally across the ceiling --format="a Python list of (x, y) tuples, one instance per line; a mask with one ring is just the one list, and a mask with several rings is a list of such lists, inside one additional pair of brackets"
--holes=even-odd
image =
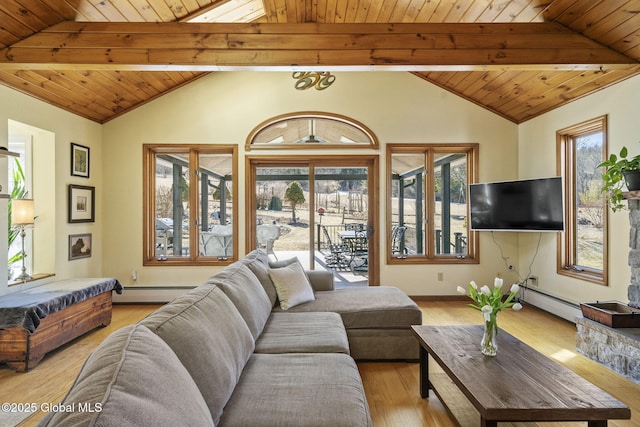
[(556, 23), (67, 21), (0, 50), (0, 70), (608, 70), (637, 64)]

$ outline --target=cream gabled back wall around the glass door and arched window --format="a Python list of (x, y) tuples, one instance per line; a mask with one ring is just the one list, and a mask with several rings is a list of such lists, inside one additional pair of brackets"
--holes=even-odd
[[(480, 180), (517, 177), (515, 124), (409, 73), (336, 73), (336, 82), (324, 91), (296, 91), (294, 82), (290, 73), (215, 73), (104, 125), (105, 275), (132, 284), (130, 273), (137, 270), (138, 286), (193, 285), (215, 271), (212, 267), (142, 267), (144, 143), (238, 144), (241, 230), (245, 224), (243, 155), (247, 135), (264, 120), (285, 113), (341, 114), (362, 122), (377, 135), (381, 143), (381, 236), (385, 235), (384, 148), (388, 143), (477, 142)], [(503, 240), (509, 256), (517, 259), (516, 236), (504, 235)], [(239, 249), (244, 253), (243, 239)], [(488, 235), (481, 238), (481, 251), (481, 265), (386, 266), (383, 258), (380, 282), (397, 285), (411, 295), (451, 295), (456, 286), (472, 278), (492, 281), (497, 271), (506, 271)], [(444, 273), (441, 282), (436, 281), (438, 272)]]

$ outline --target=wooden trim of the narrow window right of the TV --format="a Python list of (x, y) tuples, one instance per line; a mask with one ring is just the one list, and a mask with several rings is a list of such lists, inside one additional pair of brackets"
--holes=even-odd
[(608, 285), (608, 213), (605, 204), (603, 212), (603, 270), (595, 270), (588, 267), (575, 265), (576, 254), (576, 224), (573, 215), (576, 212), (576, 177), (573, 165), (575, 164), (575, 145), (573, 139), (596, 131), (603, 133), (602, 158), (608, 157), (608, 117), (607, 115), (578, 123), (573, 126), (560, 129), (556, 132), (557, 172), (564, 179), (565, 194), (565, 231), (558, 233), (557, 238), (557, 273), (562, 276), (572, 277), (599, 285)]

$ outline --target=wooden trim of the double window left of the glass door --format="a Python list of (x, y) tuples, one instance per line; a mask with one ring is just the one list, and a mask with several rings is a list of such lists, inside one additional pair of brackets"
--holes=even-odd
[[(233, 251), (230, 257), (226, 259), (216, 259), (212, 257), (200, 257), (198, 252), (197, 239), (189, 240), (189, 253), (187, 257), (167, 257), (165, 260), (158, 260), (155, 253), (155, 161), (158, 153), (162, 154), (184, 154), (189, 153), (189, 161), (194, 165), (195, 170), (198, 167), (198, 154), (224, 154), (231, 155), (232, 176), (238, 176), (238, 147), (230, 144), (144, 144), (143, 145), (143, 165), (142, 165), (142, 185), (143, 185), (143, 226), (142, 226), (142, 265), (143, 266), (199, 266), (199, 265), (215, 265), (223, 266), (232, 263), (238, 259), (238, 208), (237, 206), (232, 212), (232, 229), (233, 229)], [(190, 168), (190, 170), (194, 170)], [(193, 177), (192, 177), (193, 179)], [(231, 189), (231, 197), (238, 200), (238, 184), (236, 182)], [(196, 191), (190, 191), (189, 203), (196, 206), (196, 211), (192, 213), (198, 217), (197, 211), (198, 194)]]

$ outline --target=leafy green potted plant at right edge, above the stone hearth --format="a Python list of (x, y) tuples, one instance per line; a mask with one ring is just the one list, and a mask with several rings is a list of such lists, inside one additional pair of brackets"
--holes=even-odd
[(607, 193), (607, 203), (615, 212), (624, 209), (622, 189), (626, 185), (627, 190), (640, 190), (640, 154), (627, 158), (627, 147), (622, 147), (620, 155), (611, 154), (607, 160), (598, 167), (605, 167), (602, 174), (602, 192)]

